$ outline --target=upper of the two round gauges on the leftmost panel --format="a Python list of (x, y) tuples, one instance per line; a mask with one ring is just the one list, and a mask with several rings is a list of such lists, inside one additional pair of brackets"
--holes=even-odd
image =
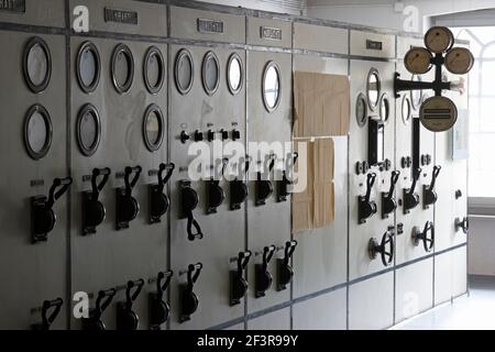
[(24, 78), (31, 91), (38, 94), (48, 87), (52, 78), (52, 55), (41, 37), (32, 37), (24, 50)]

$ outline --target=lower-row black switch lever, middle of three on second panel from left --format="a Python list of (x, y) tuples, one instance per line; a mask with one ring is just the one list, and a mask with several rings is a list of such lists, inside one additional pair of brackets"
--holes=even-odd
[(117, 305), (117, 330), (138, 330), (140, 317), (132, 310), (132, 305), (141, 294), (143, 286), (144, 279), (142, 278), (128, 282), (128, 286), (125, 288), (125, 301), (120, 301)]

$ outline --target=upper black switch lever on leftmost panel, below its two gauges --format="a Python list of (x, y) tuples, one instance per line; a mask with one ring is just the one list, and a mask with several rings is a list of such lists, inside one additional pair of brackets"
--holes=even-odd
[(31, 198), (31, 227), (33, 243), (45, 242), (48, 233), (55, 228), (57, 216), (53, 211), (55, 201), (61, 198), (73, 184), (70, 177), (55, 178), (50, 187), (48, 197), (35, 196)]

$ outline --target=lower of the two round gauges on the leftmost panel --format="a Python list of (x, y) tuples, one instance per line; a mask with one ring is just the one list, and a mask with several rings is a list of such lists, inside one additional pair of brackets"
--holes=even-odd
[(24, 145), (31, 158), (37, 161), (48, 153), (52, 145), (53, 127), (48, 111), (34, 105), (24, 120)]

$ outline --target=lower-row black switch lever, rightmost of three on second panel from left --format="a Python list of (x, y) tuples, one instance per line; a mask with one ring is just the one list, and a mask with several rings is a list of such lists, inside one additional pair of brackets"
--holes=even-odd
[(170, 306), (163, 299), (163, 295), (170, 284), (174, 272), (160, 272), (156, 278), (156, 293), (150, 294), (150, 324), (152, 330), (160, 330), (170, 316)]

